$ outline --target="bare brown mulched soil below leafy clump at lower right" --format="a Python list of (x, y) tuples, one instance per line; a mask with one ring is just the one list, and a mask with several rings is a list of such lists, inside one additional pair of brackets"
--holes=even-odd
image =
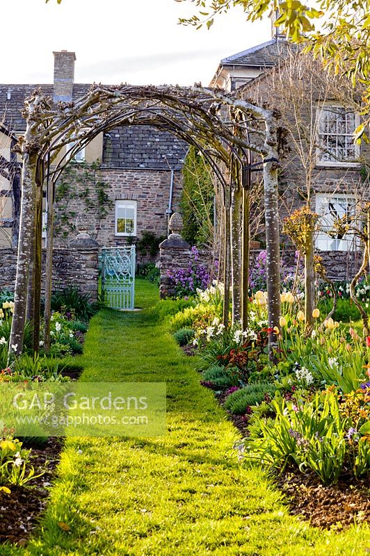
[[(218, 402), (225, 402), (225, 392), (216, 393)], [(248, 436), (248, 416), (229, 414), (235, 427)], [(291, 514), (301, 516), (320, 529), (342, 530), (353, 523), (370, 522), (370, 480), (341, 480), (324, 486), (312, 472), (290, 469), (276, 478), (287, 496)]]

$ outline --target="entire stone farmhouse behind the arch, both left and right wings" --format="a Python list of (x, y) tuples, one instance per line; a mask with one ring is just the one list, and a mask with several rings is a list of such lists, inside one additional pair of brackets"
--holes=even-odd
[[(273, 21), (275, 17), (276, 14), (273, 14)], [(268, 101), (269, 106), (281, 110), (284, 108), (283, 120), (288, 121), (291, 120), (291, 105), (282, 102), (287, 95), (281, 88), (281, 79), (280, 89), (275, 85), (279, 81), (280, 68), (289, 63), (289, 56), (296, 58), (296, 49), (284, 38), (280, 28), (272, 26), (272, 29), (272, 38), (268, 42), (221, 60), (210, 86), (234, 91), (235, 95), (258, 102)], [(293, 56), (292, 48), (295, 49)], [(75, 60), (74, 52), (54, 52), (54, 83), (40, 85), (54, 101), (77, 99), (88, 90), (90, 85), (74, 83)], [(307, 75), (303, 72), (296, 79), (310, 84), (312, 76), (307, 79)], [(326, 259), (331, 261), (331, 274), (346, 278), (353, 272), (358, 258), (357, 241), (349, 234), (333, 237), (325, 233), (325, 228), (329, 231), (335, 218), (354, 210), (359, 188), (363, 187), (364, 161), (369, 152), (364, 147), (353, 145), (353, 131), (359, 122), (355, 98), (348, 102), (348, 97), (341, 94), (341, 98), (337, 99), (333, 93), (323, 99), (321, 85), (318, 81), (311, 104), (307, 101), (306, 107), (302, 105), (303, 113), (306, 111), (307, 118), (311, 117), (304, 126), (314, 127), (309, 195), (312, 208), (321, 215), (323, 223), (323, 231), (316, 238), (316, 248), (325, 252)], [(10, 147), (16, 136), (24, 131), (22, 106), (25, 97), (34, 88), (35, 85), (0, 85), (0, 115), (3, 115), (0, 127), (2, 246), (10, 245), (12, 238), (13, 245), (15, 243), (13, 231), (19, 204), (19, 178), (16, 178), (17, 172), (11, 176), (7, 174), (6, 168), (10, 162), (15, 165)], [(303, 115), (303, 120), (305, 117)], [(66, 247), (77, 235), (79, 227), (86, 228), (86, 220), (89, 234), (100, 246), (135, 243), (145, 231), (155, 236), (166, 236), (168, 218), (178, 209), (182, 189), (181, 170), (186, 152), (184, 142), (170, 133), (150, 127), (122, 127), (95, 138), (75, 156), (76, 172), (65, 178), (59, 199), (57, 191), (59, 234), (56, 247)], [(93, 174), (88, 176), (81, 169), (79, 178), (79, 163), (82, 161), (97, 162), (97, 165)], [(288, 209), (290, 211), (303, 204), (302, 190), (307, 185), (307, 167), (302, 156), (291, 152), (284, 154), (284, 161), (280, 175), (282, 216)], [(10, 193), (12, 188), (13, 195)], [(101, 193), (100, 197), (97, 190)], [(99, 204), (104, 204), (104, 211)], [(81, 221), (84, 223), (80, 226)]]

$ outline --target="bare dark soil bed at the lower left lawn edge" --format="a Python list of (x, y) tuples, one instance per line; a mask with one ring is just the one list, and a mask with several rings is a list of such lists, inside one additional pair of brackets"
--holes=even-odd
[(45, 509), (62, 447), (61, 439), (50, 438), (42, 447), (32, 448), (31, 464), (36, 475), (46, 471), (44, 475), (26, 486), (10, 487), (10, 494), (0, 493), (0, 543), (26, 545)]

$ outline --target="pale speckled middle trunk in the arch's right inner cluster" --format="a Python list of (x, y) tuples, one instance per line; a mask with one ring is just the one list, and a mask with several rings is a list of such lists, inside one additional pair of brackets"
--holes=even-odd
[(232, 324), (241, 320), (241, 188), (234, 183), (230, 222), (232, 267)]

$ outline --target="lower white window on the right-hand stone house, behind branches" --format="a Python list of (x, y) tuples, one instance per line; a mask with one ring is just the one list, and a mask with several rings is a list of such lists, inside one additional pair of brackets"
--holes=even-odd
[(351, 232), (339, 234), (334, 229), (334, 222), (344, 216), (355, 214), (356, 200), (353, 195), (325, 193), (316, 195), (316, 213), (320, 215), (319, 234), (316, 247), (322, 251), (349, 251), (357, 247), (357, 240)]

